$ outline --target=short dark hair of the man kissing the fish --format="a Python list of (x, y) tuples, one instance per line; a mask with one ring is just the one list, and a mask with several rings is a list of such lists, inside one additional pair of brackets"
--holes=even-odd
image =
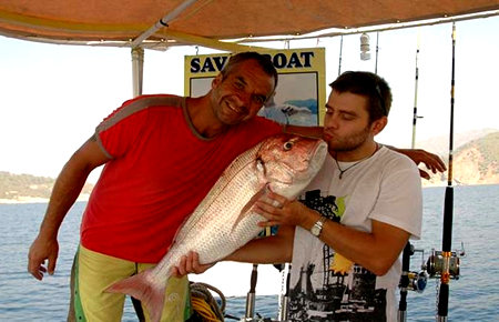
[(364, 95), (369, 100), (369, 121), (388, 117), (391, 108), (391, 90), (379, 76), (368, 71), (346, 71), (329, 84), (333, 90)]

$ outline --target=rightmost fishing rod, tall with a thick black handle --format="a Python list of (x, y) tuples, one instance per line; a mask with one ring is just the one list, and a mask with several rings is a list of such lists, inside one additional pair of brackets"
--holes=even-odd
[(447, 322), (449, 309), (449, 282), (450, 258), (452, 243), (452, 217), (454, 217), (454, 188), (452, 188), (452, 153), (454, 153), (454, 85), (455, 85), (455, 57), (456, 57), (456, 22), (452, 22), (452, 72), (450, 90), (450, 134), (449, 134), (449, 169), (444, 207), (444, 233), (442, 233), (442, 272), (440, 275), (440, 292), (438, 294), (437, 321)]

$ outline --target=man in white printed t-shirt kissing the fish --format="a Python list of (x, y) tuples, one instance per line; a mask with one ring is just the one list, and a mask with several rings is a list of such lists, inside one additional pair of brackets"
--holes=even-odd
[[(391, 105), (384, 79), (345, 72), (330, 87), (322, 171), (297, 201), (272, 192), (259, 201), (261, 225), (279, 225), (277, 235), (226, 260), (292, 262), (289, 321), (396, 321), (399, 255), (421, 231), (419, 171), (374, 140)], [(187, 271), (207, 268), (187, 261)]]

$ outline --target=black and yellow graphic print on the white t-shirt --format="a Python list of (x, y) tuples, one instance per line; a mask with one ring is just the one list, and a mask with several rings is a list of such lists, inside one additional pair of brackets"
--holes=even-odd
[[(345, 200), (314, 190), (301, 202), (339, 222)], [(309, 238), (315, 239), (312, 234)], [(386, 321), (386, 290), (376, 289), (374, 273), (348, 260), (346, 272), (338, 272), (335, 261), (343, 256), (324, 243), (305, 253), (310, 255), (293, 259), (293, 270), (298, 270), (299, 278), (291, 285), (288, 321)]]

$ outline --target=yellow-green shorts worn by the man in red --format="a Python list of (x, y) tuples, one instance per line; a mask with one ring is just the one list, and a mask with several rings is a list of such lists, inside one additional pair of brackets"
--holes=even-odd
[[(154, 264), (135, 263), (93, 252), (80, 245), (71, 270), (71, 303), (68, 321), (121, 321), (125, 295), (104, 292), (113, 283)], [(191, 316), (189, 280), (170, 278), (161, 321), (182, 322)], [(147, 310), (142, 309), (145, 321)]]

